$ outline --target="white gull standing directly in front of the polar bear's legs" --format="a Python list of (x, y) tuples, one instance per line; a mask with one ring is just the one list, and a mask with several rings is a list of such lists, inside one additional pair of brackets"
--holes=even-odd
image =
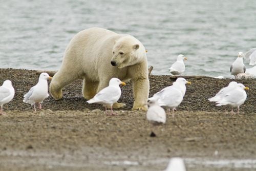
[(111, 80), (109, 82), (109, 86), (102, 89), (92, 99), (88, 100), (87, 102), (89, 104), (98, 103), (98, 104), (105, 105), (105, 112), (106, 112), (106, 106), (110, 105), (111, 114), (108, 114), (106, 112), (106, 115), (115, 115), (113, 113), (112, 106), (113, 106), (114, 103), (117, 102), (117, 100), (121, 96), (121, 89), (119, 87), (120, 84), (125, 86), (125, 82), (120, 81), (120, 79), (111, 78)]

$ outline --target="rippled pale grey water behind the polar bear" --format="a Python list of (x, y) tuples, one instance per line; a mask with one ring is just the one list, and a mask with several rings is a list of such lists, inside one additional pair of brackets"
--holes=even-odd
[(57, 70), (70, 39), (90, 27), (138, 38), (156, 75), (184, 54), (184, 75), (231, 77), (238, 52), (256, 47), (251, 0), (0, 2), (0, 68)]

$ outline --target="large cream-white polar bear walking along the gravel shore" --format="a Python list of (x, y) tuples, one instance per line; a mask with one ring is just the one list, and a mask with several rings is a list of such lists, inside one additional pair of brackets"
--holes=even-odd
[[(83, 79), (82, 94), (89, 100), (107, 87), (113, 77), (132, 80), (133, 110), (146, 111), (150, 84), (144, 46), (131, 35), (89, 28), (70, 41), (61, 67), (52, 78), (50, 92), (55, 99), (60, 99), (63, 87)], [(113, 108), (124, 105), (115, 103)]]

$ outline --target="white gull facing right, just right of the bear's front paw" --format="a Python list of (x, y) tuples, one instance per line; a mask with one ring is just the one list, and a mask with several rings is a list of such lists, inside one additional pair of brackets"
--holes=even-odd
[(148, 100), (157, 100), (158, 104), (164, 108), (167, 108), (168, 111), (169, 109), (172, 109), (174, 117), (174, 111), (176, 110), (177, 106), (180, 105), (185, 95), (185, 84), (191, 84), (191, 82), (187, 81), (185, 78), (178, 78), (173, 83), (173, 86), (162, 89), (153, 97), (148, 98)]

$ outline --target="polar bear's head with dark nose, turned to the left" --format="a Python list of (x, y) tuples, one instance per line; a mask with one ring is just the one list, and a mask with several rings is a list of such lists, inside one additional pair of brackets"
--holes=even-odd
[(145, 54), (145, 50), (142, 49), (144, 49), (142, 44), (133, 36), (124, 36), (115, 40), (111, 65), (121, 69), (139, 63)]

